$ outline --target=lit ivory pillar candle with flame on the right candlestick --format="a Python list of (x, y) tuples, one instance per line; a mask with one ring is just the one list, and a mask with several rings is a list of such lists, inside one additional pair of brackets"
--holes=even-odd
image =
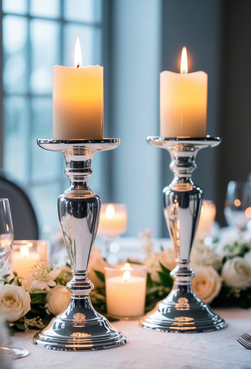
[(208, 75), (187, 73), (183, 48), (180, 73), (160, 73), (160, 136), (205, 137)]

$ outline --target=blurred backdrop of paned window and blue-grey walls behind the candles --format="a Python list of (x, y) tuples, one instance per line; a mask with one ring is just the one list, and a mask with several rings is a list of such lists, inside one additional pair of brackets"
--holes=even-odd
[[(28, 194), (39, 230), (58, 227), (57, 197), (68, 187), (64, 158), (42, 150), (52, 138), (52, 66), (104, 66), (104, 135), (120, 146), (98, 153), (89, 186), (103, 203), (128, 207), (127, 236), (166, 237), (162, 189), (170, 156), (146, 143), (159, 135), (159, 73), (208, 73), (209, 135), (222, 143), (197, 156), (194, 182), (225, 225), (227, 183), (251, 172), (251, 2), (248, 0), (2, 0), (0, 167)], [(163, 152), (162, 152), (163, 151)]]

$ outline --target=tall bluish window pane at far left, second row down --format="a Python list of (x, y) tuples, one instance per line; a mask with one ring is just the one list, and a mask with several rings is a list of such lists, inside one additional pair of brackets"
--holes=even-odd
[(13, 15), (4, 16), (3, 85), (6, 92), (26, 92), (26, 55), (27, 20)]

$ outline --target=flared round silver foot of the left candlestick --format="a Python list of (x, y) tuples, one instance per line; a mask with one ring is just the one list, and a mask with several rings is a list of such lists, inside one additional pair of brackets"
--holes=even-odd
[(124, 335), (92, 307), (89, 296), (71, 298), (66, 310), (38, 332), (34, 343), (60, 351), (93, 351), (124, 345)]

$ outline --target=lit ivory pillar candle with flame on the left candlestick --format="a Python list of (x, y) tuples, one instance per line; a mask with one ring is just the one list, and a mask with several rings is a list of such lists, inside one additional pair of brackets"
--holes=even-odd
[(75, 67), (53, 66), (53, 139), (103, 139), (103, 67), (82, 66), (79, 39)]

